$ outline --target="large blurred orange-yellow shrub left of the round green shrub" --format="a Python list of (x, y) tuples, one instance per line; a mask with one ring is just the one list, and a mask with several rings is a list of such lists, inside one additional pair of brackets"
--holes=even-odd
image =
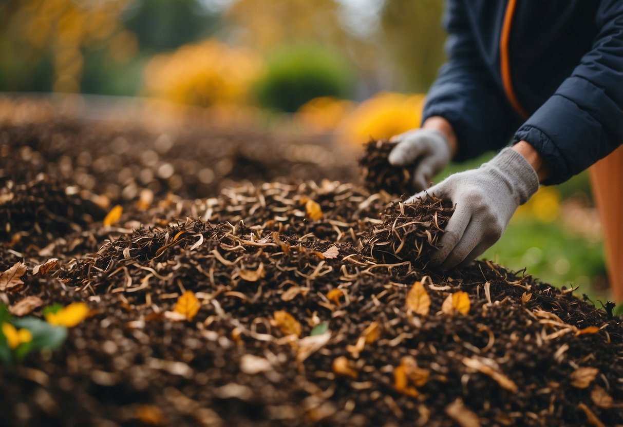
[(262, 69), (262, 59), (252, 50), (208, 39), (153, 57), (145, 67), (145, 89), (148, 95), (194, 106), (244, 104)]

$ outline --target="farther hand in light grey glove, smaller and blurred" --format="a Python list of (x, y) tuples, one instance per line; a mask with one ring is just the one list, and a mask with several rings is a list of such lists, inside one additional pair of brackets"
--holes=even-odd
[(413, 185), (417, 191), (428, 188), (432, 177), (441, 172), (452, 157), (444, 134), (431, 129), (414, 129), (392, 137), (398, 143), (389, 153), (394, 166), (414, 164)]

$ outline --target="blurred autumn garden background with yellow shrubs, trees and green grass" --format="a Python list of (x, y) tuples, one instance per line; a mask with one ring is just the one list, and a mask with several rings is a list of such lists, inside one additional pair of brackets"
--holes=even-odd
[[(0, 92), (138, 98), (359, 146), (419, 126), (424, 94), (444, 62), (442, 5), (0, 0)], [(541, 189), (484, 256), (607, 298), (587, 175)]]

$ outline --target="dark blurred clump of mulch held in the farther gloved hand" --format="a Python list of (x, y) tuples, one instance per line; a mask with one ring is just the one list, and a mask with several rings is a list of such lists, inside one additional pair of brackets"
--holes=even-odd
[(364, 185), (373, 193), (385, 190), (389, 194), (410, 195), (414, 192), (409, 169), (389, 164), (389, 153), (395, 146), (396, 143), (387, 139), (371, 139), (364, 146), (359, 166), (363, 169)]

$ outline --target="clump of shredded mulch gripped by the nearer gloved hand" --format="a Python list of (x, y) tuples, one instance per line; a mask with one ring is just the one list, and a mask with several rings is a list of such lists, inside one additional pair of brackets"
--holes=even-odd
[(366, 242), (366, 252), (384, 262), (411, 261), (426, 266), (454, 207), (429, 196), (413, 204), (397, 202), (381, 215), (383, 223), (374, 227)]

